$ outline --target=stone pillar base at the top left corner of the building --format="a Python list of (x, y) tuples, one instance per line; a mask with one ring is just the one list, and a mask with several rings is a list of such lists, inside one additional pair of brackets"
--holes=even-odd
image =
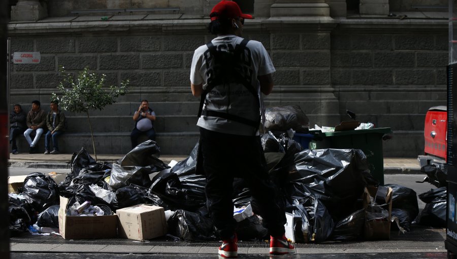
[(19, 0), (11, 7), (11, 21), (38, 21), (48, 17), (45, 1)]

